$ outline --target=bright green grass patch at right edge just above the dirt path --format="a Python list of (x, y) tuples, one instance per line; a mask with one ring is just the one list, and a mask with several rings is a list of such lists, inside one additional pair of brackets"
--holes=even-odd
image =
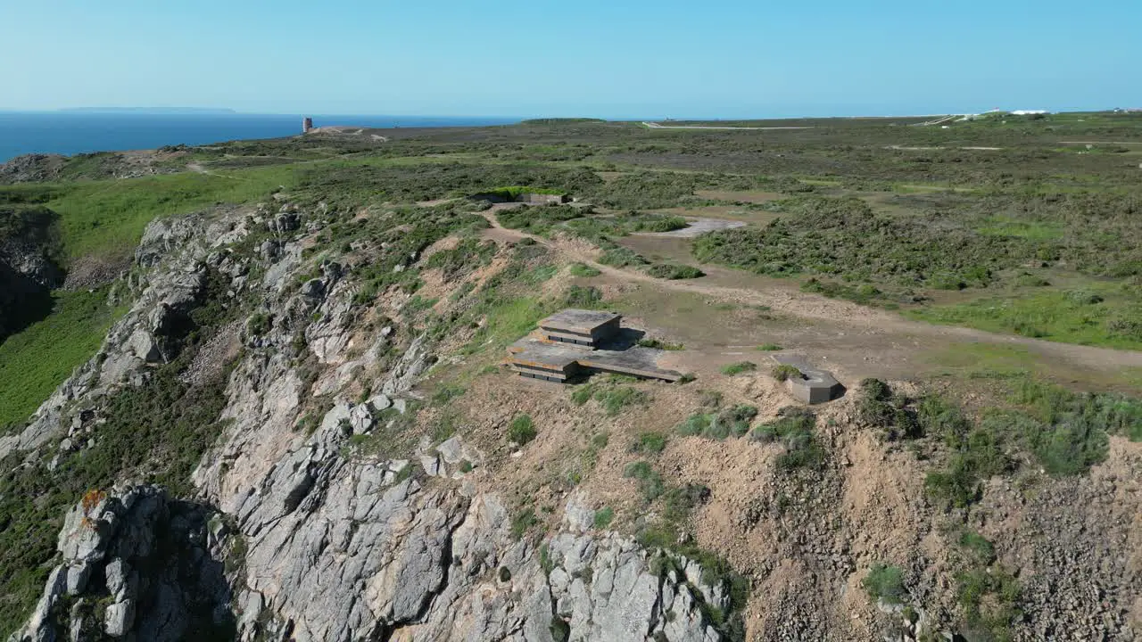
[[(1107, 291), (1037, 291), (906, 312), (911, 319), (1051, 342), (1142, 350), (1142, 298)], [(1118, 295), (1118, 296), (1116, 296)], [(1136, 296), (1136, 295), (1135, 295)]]

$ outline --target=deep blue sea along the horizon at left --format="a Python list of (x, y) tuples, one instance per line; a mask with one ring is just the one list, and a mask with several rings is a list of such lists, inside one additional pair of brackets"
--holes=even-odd
[[(509, 118), (317, 115), (314, 127), (466, 127), (509, 125)], [(206, 145), (301, 133), (301, 115), (153, 114), (93, 112), (0, 112), (0, 162), (31, 153), (79, 154), (153, 150), (163, 145)]]

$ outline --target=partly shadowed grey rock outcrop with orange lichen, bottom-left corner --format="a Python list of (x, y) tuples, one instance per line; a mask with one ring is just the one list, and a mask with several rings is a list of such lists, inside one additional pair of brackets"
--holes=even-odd
[[(88, 493), (64, 521), (53, 571), (15, 641), (176, 641), (233, 628), (224, 529), (209, 507), (156, 487)], [(62, 623), (66, 623), (64, 628)]]

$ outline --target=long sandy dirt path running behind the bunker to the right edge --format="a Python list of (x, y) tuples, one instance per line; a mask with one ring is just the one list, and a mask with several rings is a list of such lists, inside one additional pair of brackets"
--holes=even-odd
[[(984, 343), (1000, 346), (1026, 347), (1047, 361), (1078, 366), (1084, 370), (1118, 374), (1123, 369), (1142, 369), (1142, 352), (1104, 347), (1062, 344), (1028, 337), (997, 335), (973, 328), (934, 326), (911, 321), (884, 310), (876, 310), (854, 303), (830, 299), (817, 295), (789, 291), (778, 288), (740, 288), (703, 282), (703, 279), (668, 281), (654, 279), (636, 270), (624, 270), (604, 265), (596, 260), (597, 249), (572, 240), (548, 240), (518, 230), (508, 230), (499, 224), (494, 211), (484, 212), (491, 224), (489, 236), (504, 240), (531, 239), (570, 258), (598, 270), (603, 275), (620, 282), (636, 282), (659, 290), (687, 292), (739, 305), (761, 305), (770, 310), (806, 320), (827, 321), (850, 328), (854, 335), (882, 336), (893, 345), (920, 345), (930, 348), (952, 346), (960, 343)], [(722, 271), (714, 267), (711, 271)], [(917, 348), (922, 350), (922, 348)]]

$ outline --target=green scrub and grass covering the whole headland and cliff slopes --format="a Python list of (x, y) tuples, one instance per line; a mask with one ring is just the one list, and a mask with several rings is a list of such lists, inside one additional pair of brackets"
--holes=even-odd
[[(54, 182), (0, 186), (0, 209), (19, 214), (0, 217), (0, 241), (14, 236), (17, 224), (48, 222), (45, 230), (51, 238), (43, 242), (65, 268), (89, 259), (126, 266), (144, 226), (156, 216), (259, 202), (274, 211), (275, 195), (287, 193), (303, 210), (321, 212), (323, 225), (301, 251), (304, 267), (289, 287), (296, 291), (330, 262), (340, 262), (355, 283), (354, 314), (367, 318), (386, 297), (403, 300), (401, 323), (407, 326), (400, 331), (416, 331), (426, 342), (455, 348), (450, 356), (456, 361), (449, 364), (460, 371), (457, 377), (474, 378), (478, 369), (493, 378), (493, 361), (504, 348), (561, 307), (601, 307), (635, 296), (637, 288), (690, 288), (719, 275), (725, 279), (725, 273), (781, 279), (778, 287), (899, 310), (914, 322), (1142, 348), (1142, 157), (1133, 147), (1087, 149), (1061, 142), (1136, 137), (1142, 118), (986, 120), (949, 130), (850, 121), (817, 127), (767, 134), (759, 143), (755, 135), (555, 119), (394, 135), (384, 144), (240, 142), (174, 150), (170, 153), (183, 155), (156, 166), (171, 174), (126, 179), (108, 177), (104, 166), (113, 162), (112, 155), (86, 155), (67, 161)], [(963, 149), (975, 145), (998, 150)], [(187, 163), (204, 171), (186, 171)], [(565, 193), (579, 202), (492, 212), (488, 203), (467, 199), (481, 192), (512, 199), (525, 191)], [(439, 204), (418, 204), (423, 201)], [(660, 256), (632, 242), (643, 238), (634, 234), (686, 227), (683, 214), (705, 216), (709, 210), (747, 225), (678, 241), (690, 243), (692, 258)], [(523, 234), (513, 233), (510, 242), (493, 241), (490, 222)], [(255, 236), (270, 239), (264, 222), (258, 225)], [(561, 243), (573, 246), (576, 254), (558, 256)], [(235, 251), (252, 255), (254, 244)], [(621, 271), (640, 272), (637, 288), (625, 288), (630, 283), (622, 281)], [(693, 281), (669, 282), (676, 280)], [(447, 284), (443, 294), (432, 291), (440, 281)], [(57, 290), (48, 297), (50, 305), (0, 343), (0, 428), (18, 428), (95, 354), (130, 303), (130, 294), (124, 297), (108, 304), (106, 284)], [(211, 291), (196, 313), (201, 332), (188, 350), (156, 367), (145, 385), (114, 394), (114, 419), (98, 428), (93, 448), (65, 452), (54, 468), (45, 463), (21, 467), (15, 455), (3, 463), (0, 549), (8, 553), (0, 555), (0, 634), (10, 631), (39, 595), (59, 520), (83, 492), (124, 475), (164, 483), (175, 493), (191, 492), (190, 472), (224, 427), (219, 411), (225, 379), (190, 386), (180, 375), (222, 324), (240, 323), (246, 337), (262, 337), (274, 328), (270, 315), (247, 303)], [(669, 305), (681, 308), (683, 303)], [(745, 314), (748, 306), (703, 295), (694, 307), (703, 323), (716, 324)], [(653, 319), (652, 313), (645, 316)], [(774, 416), (758, 409), (761, 401), (731, 396), (746, 391), (757, 396), (770, 390), (759, 382), (774, 386), (771, 377), (802, 376), (796, 368), (773, 368), (754, 352), (771, 336), (781, 344), (756, 350), (801, 347), (801, 328), (790, 328), (802, 321), (775, 322), (780, 332), (753, 337), (745, 347), (749, 353), (725, 352), (739, 356), (695, 367), (699, 383), (684, 388), (661, 392), (667, 388), (595, 376), (557, 395), (564, 409), (601, 425), (582, 435), (585, 446), (569, 458), (577, 467), (556, 475), (558, 483), (581, 483), (584, 472), (616, 455), (614, 449), (604, 455), (609, 443), (621, 444), (618, 456), (625, 459), (611, 462), (612, 473), (637, 493), (632, 492), (632, 505), (645, 517), (635, 520), (629, 506), (609, 499), (610, 505), (593, 508), (594, 527), (628, 529), (646, 546), (698, 561), (703, 579), (708, 573), (733, 596), (729, 612), (710, 610), (706, 617), (738, 639), (745, 631), (740, 610), (749, 583), (695, 543), (691, 523), (710, 501), (705, 483), (714, 482), (683, 483), (664, 464), (678, 444), (697, 443), (758, 449), (772, 462), (774, 483), (786, 484), (783, 489), (843, 474), (837, 472), (844, 464), (836, 431), (827, 423), (835, 414), (788, 407)], [(833, 328), (820, 330), (827, 331)], [(700, 352), (701, 343), (683, 338), (689, 351)], [(699, 338), (725, 343), (708, 335)], [(684, 347), (668, 334), (638, 343), (667, 351)], [(862, 433), (866, 440), (875, 434), (887, 452), (915, 460), (922, 471), (916, 483), (924, 489), (916, 495), (923, 496), (925, 509), (948, 522), (958, 520), (955, 532), (941, 533), (956, 547), (949, 586), (964, 629), (980, 640), (1002, 639), (1018, 618), (1021, 600), (1022, 576), (1016, 578), (999, 562), (996, 547), (1002, 541), (992, 544), (968, 529), (986, 505), (989, 481), (1073, 481), (1105, 463), (1111, 443), (1142, 441), (1142, 402), (1136, 398), (1077, 392), (1099, 390), (1100, 383), (1062, 387), (1038, 376), (1034, 360), (1015, 352), (1018, 347), (989, 350), (1008, 351), (1005, 359), (1019, 367), (1000, 371), (989, 360), (1002, 361), (995, 354), (963, 351), (958, 356), (974, 370), (950, 375), (948, 390), (938, 393), (940, 386), (924, 382), (900, 386), (867, 379), (852, 386), (851, 400), (842, 402), (852, 404), (855, 422), (868, 431)], [(741, 360), (748, 354), (766, 359), (766, 364)], [(730, 362), (734, 359), (740, 361)], [(724, 366), (718, 369), (718, 363)], [(1126, 390), (1123, 372), (1116, 383)], [(437, 367), (436, 374), (451, 372)], [(312, 375), (306, 372), (307, 383), (313, 383)], [(445, 382), (424, 398), (436, 412), (428, 427), (435, 441), (463, 432), (465, 416), (457, 406), (472, 378)], [(683, 383), (693, 380), (690, 375)], [(694, 391), (707, 380), (730, 391), (725, 400), (717, 390)], [(625, 424), (654, 411), (656, 402), (673, 399), (679, 390), (702, 402), (657, 426)], [(314, 431), (323, 407), (315, 404), (296, 430)], [(353, 456), (388, 452), (388, 442), (408, 438), (397, 433), (411, 431), (415, 415), (416, 408), (391, 432), (353, 438)], [(554, 441), (549, 426), (532, 409), (513, 409), (497, 419), (497, 444), (522, 448), (524, 455), (541, 450), (539, 446)], [(472, 472), (472, 464), (463, 472)], [(796, 499), (774, 498), (779, 511), (790, 501)], [(547, 520), (541, 506), (514, 507), (510, 514), (510, 530), (521, 538), (540, 531)], [(654, 555), (661, 573), (677, 570), (669, 555)], [(915, 568), (885, 559), (868, 570), (861, 586), (872, 600), (907, 610), (916, 597), (909, 593), (916, 581)]]

